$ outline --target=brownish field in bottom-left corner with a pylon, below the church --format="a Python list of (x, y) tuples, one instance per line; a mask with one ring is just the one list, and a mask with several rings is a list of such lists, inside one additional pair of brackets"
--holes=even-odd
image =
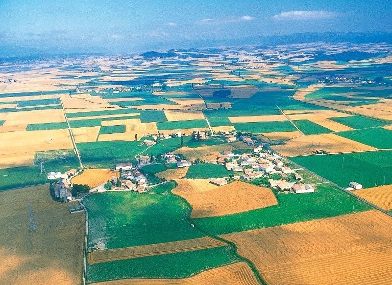
[(85, 216), (74, 204), (53, 201), (48, 185), (0, 192), (1, 284), (81, 284)]

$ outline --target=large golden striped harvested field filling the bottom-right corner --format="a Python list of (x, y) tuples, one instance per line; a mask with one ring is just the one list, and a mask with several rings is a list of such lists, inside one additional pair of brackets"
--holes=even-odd
[(232, 234), (270, 284), (389, 284), (392, 219), (377, 210)]

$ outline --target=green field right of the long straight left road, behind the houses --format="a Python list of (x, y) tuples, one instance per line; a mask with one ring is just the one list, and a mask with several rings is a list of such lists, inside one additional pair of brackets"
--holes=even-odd
[(139, 141), (94, 141), (77, 144), (83, 164), (97, 168), (111, 168), (119, 162), (134, 160), (146, 149)]

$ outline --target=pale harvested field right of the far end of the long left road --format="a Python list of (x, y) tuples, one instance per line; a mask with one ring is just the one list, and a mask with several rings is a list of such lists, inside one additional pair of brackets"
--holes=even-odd
[(61, 94), (61, 101), (64, 109), (86, 109), (86, 108), (113, 108), (116, 105), (110, 105), (99, 96), (91, 96), (90, 94)]

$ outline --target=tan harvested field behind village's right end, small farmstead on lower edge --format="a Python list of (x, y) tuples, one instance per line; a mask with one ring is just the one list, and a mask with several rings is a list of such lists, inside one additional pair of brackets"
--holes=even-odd
[(272, 146), (283, 156), (301, 156), (314, 154), (315, 149), (323, 149), (329, 153), (377, 150), (374, 147), (358, 143), (336, 134), (317, 134), (296, 137), (285, 141), (284, 145)]

